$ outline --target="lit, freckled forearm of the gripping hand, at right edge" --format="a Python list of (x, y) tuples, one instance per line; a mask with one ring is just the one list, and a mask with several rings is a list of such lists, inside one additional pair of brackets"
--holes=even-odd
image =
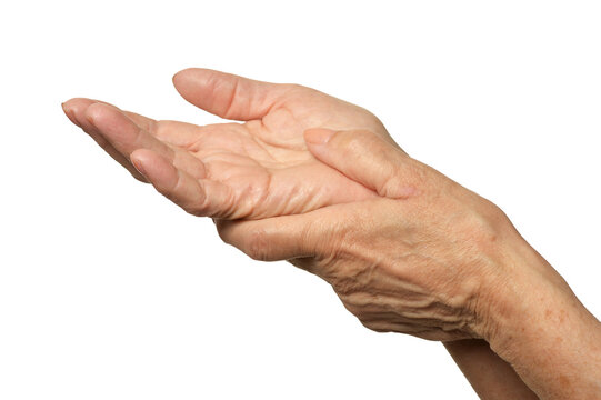
[(541, 399), (601, 398), (601, 323), (525, 242), (511, 254), (511, 278), (489, 290), (491, 348)]

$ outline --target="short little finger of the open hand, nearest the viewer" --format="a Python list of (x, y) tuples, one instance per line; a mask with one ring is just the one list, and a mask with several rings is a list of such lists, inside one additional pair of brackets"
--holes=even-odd
[(231, 193), (222, 183), (197, 179), (148, 149), (136, 150), (131, 162), (157, 191), (191, 214), (222, 217), (232, 212)]

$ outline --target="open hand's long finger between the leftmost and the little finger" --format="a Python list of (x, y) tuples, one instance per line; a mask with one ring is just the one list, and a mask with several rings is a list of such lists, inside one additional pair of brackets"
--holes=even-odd
[(192, 177), (204, 178), (204, 166), (199, 159), (183, 150), (169, 147), (136, 124), (116, 107), (93, 103), (86, 110), (86, 119), (127, 159), (136, 150), (148, 149)]

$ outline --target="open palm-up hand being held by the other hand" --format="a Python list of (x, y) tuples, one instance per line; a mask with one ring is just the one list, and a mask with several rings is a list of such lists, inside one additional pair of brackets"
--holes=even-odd
[(375, 197), (317, 161), (302, 137), (312, 127), (369, 129), (393, 143), (367, 110), (301, 86), (204, 69), (181, 71), (173, 83), (192, 104), (246, 122), (154, 121), (90, 99), (63, 109), (137, 179), (197, 216), (258, 219)]

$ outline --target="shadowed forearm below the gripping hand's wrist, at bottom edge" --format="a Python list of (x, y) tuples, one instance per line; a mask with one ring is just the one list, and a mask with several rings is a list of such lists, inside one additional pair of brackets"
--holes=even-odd
[(443, 344), (481, 399), (538, 399), (487, 341), (467, 339)]

